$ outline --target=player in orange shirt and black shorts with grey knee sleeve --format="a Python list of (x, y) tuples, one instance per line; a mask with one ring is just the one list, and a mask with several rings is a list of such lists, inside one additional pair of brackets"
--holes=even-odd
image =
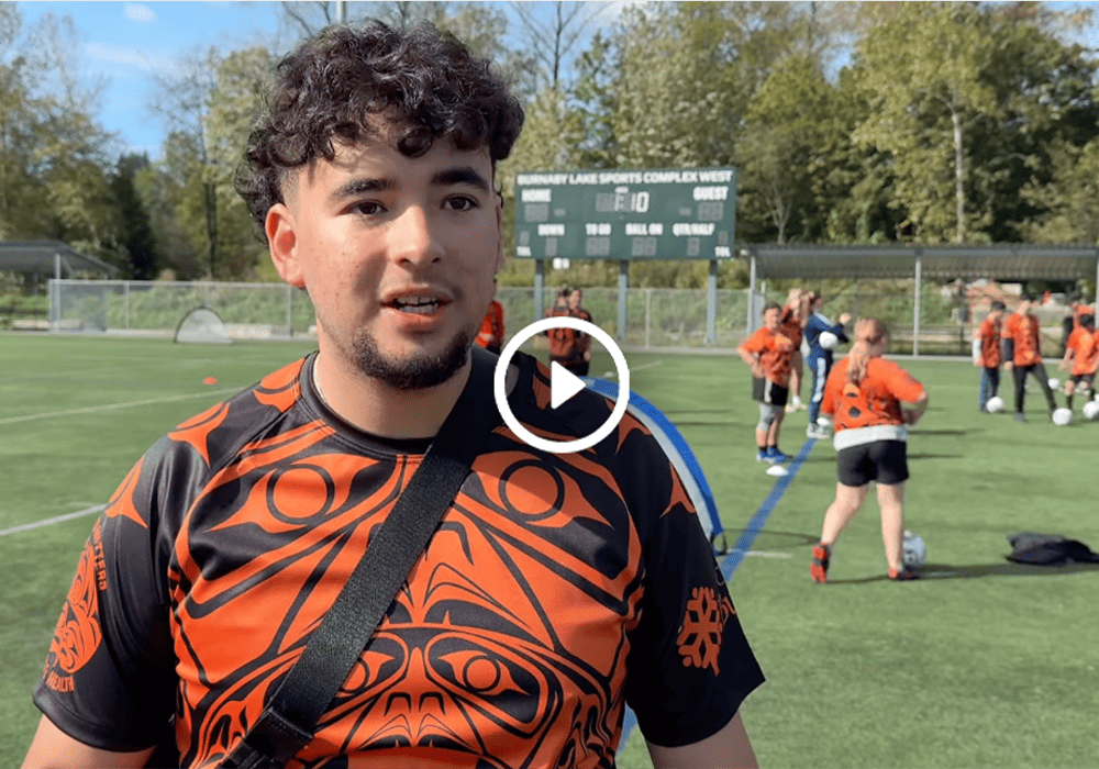
[(741, 359), (752, 369), (752, 398), (759, 403), (756, 461), (770, 465), (790, 459), (778, 449), (793, 363), (793, 339), (782, 333), (781, 315), (782, 308), (776, 302), (769, 303), (763, 309), (763, 327), (736, 348)]

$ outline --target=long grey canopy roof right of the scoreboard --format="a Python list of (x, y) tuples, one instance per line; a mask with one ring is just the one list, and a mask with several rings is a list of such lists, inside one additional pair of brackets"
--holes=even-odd
[(1013, 243), (997, 246), (747, 245), (758, 278), (913, 278), (965, 281), (1090, 280), (1099, 247)]

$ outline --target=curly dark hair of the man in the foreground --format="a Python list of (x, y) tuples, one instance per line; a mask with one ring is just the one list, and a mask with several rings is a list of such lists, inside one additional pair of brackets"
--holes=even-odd
[(289, 171), (333, 159), (333, 138), (353, 144), (387, 126), (402, 130), (397, 148), (408, 157), (446, 138), (488, 147), (495, 167), (519, 137), (523, 108), (487, 59), (428, 22), (330, 26), (279, 63), (237, 170), (262, 237)]

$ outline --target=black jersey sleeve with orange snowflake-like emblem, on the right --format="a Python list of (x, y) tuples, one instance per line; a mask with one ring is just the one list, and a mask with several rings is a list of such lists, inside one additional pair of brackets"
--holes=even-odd
[(720, 731), (764, 677), (698, 515), (670, 460), (648, 442), (652, 459), (631, 484), (631, 504), (648, 508), (639, 516), (648, 531), (625, 694), (645, 738), (676, 747)]

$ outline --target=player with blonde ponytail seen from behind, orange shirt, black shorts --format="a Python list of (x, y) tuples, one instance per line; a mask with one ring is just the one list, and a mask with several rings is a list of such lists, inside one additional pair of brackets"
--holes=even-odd
[[(889, 579), (914, 579), (919, 572), (903, 565), (904, 486), (908, 481), (908, 425), (928, 408), (928, 392), (908, 371), (881, 356), (888, 346), (881, 321), (855, 323), (855, 344), (836, 364), (824, 386), (821, 411), (835, 424), (835, 500), (824, 514), (820, 542), (813, 547), (809, 573), (828, 581), (829, 560), (840, 534), (866, 500), (870, 481), (878, 487), (881, 539)], [(902, 409), (901, 403), (912, 403)]]

